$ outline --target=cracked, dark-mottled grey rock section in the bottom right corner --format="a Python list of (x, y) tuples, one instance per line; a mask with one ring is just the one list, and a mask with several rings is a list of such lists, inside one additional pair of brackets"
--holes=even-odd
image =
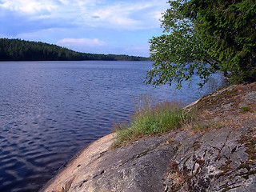
[[(165, 183), (171, 185), (168, 186), (170, 190), (166, 191), (184, 191), (182, 186), (186, 186), (186, 191), (222, 191), (231, 186), (247, 185), (246, 178), (241, 177), (246, 175), (246, 172), (240, 169), (248, 160), (249, 154), (246, 153), (245, 144), (239, 143), (247, 133), (247, 130), (230, 130), (226, 127), (211, 130), (197, 141), (200, 143), (197, 150), (193, 150), (192, 143), (186, 150), (178, 150), (173, 160), (173, 164), (177, 164), (178, 168), (170, 170), (169, 175), (180, 177), (182, 185), (175, 183), (177, 178), (167, 177)], [(251, 177), (253, 180), (256, 175)], [(174, 181), (170, 182), (172, 179)], [(254, 185), (254, 182), (250, 183)]]

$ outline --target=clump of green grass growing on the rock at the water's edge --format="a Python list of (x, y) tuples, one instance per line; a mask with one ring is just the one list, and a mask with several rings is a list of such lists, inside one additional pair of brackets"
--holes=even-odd
[(130, 123), (114, 125), (117, 138), (114, 146), (121, 146), (144, 136), (162, 134), (182, 127), (194, 118), (194, 113), (185, 112), (173, 102), (140, 105), (130, 118)]

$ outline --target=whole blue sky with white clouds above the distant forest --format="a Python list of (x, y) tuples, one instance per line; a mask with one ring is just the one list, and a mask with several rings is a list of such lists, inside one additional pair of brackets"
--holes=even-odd
[(0, 38), (148, 57), (167, 0), (0, 0)]

